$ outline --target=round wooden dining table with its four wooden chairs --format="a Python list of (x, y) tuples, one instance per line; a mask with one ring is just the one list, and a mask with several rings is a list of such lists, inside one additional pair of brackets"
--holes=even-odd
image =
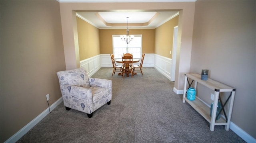
[[(118, 76), (124, 76), (133, 78), (134, 75), (142, 72), (142, 65), (144, 61), (145, 54), (143, 53), (141, 59), (133, 58), (132, 53), (124, 53), (122, 59), (115, 59), (114, 54), (110, 54), (112, 65), (113, 65), (113, 72), (114, 74), (118, 74)], [(139, 64), (138, 64), (139, 63)], [(121, 65), (122, 64), (122, 65)]]

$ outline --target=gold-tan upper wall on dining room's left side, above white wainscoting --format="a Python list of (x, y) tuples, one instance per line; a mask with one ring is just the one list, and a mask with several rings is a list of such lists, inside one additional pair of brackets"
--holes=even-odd
[(99, 29), (76, 17), (80, 61), (100, 54)]

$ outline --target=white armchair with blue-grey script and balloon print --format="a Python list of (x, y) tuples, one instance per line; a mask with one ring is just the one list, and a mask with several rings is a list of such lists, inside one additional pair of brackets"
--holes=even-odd
[(89, 78), (83, 67), (57, 72), (60, 91), (66, 110), (74, 109), (92, 113), (103, 106), (110, 105), (112, 99), (112, 80)]

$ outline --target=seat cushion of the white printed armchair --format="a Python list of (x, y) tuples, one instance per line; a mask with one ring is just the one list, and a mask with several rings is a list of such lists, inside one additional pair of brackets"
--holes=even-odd
[(92, 90), (92, 102), (96, 103), (109, 95), (109, 89), (104, 87), (90, 87)]

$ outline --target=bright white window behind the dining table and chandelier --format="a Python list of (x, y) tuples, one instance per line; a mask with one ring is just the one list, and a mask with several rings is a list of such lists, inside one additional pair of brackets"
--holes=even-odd
[(115, 59), (121, 59), (124, 53), (132, 53), (133, 58), (140, 59), (142, 54), (142, 35), (134, 35), (129, 44), (122, 41), (120, 35), (113, 35), (113, 54)]

